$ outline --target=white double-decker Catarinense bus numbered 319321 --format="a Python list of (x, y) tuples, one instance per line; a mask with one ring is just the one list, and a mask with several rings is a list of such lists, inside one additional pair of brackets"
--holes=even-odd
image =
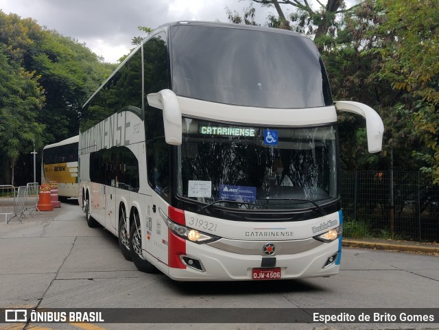
[(80, 200), (139, 270), (181, 281), (339, 272), (337, 113), (300, 34), (178, 22), (154, 30), (84, 105)]

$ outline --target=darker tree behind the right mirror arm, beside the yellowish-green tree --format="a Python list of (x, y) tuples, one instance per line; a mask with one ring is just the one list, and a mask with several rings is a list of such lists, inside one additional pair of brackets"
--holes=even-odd
[[(291, 2), (296, 5), (300, 2), (302, 7), (299, 6), (296, 16), (290, 16), (296, 17), (290, 28), (308, 34), (316, 31), (313, 21), (309, 19), (309, 13), (305, 10), (309, 3)], [(264, 3), (267, 4), (268, 1)], [(287, 1), (278, 3), (285, 5)], [(337, 3), (328, 1), (327, 5), (329, 10), (334, 10)], [(369, 154), (366, 150), (364, 120), (346, 113), (339, 114), (344, 169), (390, 168), (392, 158), (395, 164), (400, 165), (400, 169), (416, 169), (421, 166), (410, 152), (422, 149), (422, 145), (414, 136), (414, 121), (407, 110), (407, 104), (410, 103), (409, 93), (392, 88), (390, 82), (379, 77), (382, 60), (375, 48), (388, 39), (387, 34), (377, 32), (377, 27), (384, 19), (385, 14), (377, 8), (375, 1), (364, 0), (344, 10), (344, 14), (333, 21), (327, 34), (320, 37), (320, 45), (324, 45), (320, 47), (320, 53), (326, 63), (334, 99), (349, 99), (368, 104), (379, 112), (385, 124), (383, 152), (379, 155)], [(268, 24), (276, 27), (276, 22), (278, 18), (272, 18)]]

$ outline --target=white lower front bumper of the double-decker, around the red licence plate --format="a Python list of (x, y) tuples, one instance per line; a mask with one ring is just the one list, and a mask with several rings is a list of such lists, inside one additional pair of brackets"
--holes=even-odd
[[(250, 281), (255, 277), (254, 268), (269, 272), (280, 268), (280, 279), (332, 276), (340, 270), (340, 257), (341, 237), (295, 254), (273, 255), (269, 267), (263, 266), (262, 255), (241, 255), (187, 242), (185, 254), (180, 255), (185, 267), (168, 268), (168, 276), (178, 281)], [(279, 279), (278, 273), (275, 277)]]

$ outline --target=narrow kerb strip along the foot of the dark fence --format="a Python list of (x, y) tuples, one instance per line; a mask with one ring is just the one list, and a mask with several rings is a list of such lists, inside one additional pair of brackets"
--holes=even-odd
[(439, 244), (419, 243), (417, 241), (396, 241), (392, 239), (343, 239), (348, 248), (370, 248), (374, 250), (394, 250), (401, 252), (419, 252), (439, 255)]

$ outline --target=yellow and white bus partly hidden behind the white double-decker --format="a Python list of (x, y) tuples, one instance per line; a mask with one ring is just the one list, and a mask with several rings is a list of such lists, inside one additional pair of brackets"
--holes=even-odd
[(41, 162), (41, 183), (58, 182), (60, 198), (78, 197), (78, 135), (46, 145)]

